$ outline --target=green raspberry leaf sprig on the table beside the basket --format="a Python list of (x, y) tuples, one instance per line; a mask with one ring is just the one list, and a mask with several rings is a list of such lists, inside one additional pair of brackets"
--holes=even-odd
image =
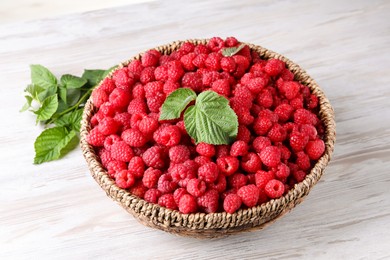
[(58, 80), (42, 65), (31, 65), (31, 84), (24, 90), (26, 104), (20, 110), (36, 115), (47, 127), (35, 140), (34, 164), (56, 160), (79, 142), (80, 121), (86, 100), (109, 70), (85, 70), (81, 77), (62, 75)]

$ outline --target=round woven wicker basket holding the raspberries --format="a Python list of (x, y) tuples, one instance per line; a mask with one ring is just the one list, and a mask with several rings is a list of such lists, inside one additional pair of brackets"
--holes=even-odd
[[(189, 40), (194, 44), (205, 44), (207, 39)], [(184, 41), (175, 41), (167, 45), (157, 47), (163, 54), (170, 54), (177, 50)], [(273, 51), (253, 44), (247, 44), (252, 50), (257, 51), (264, 59), (277, 58), (284, 61), (287, 67), (294, 73), (295, 79), (308, 86), (312, 93), (319, 98), (319, 117), (325, 126), (325, 154), (318, 160), (306, 178), (296, 184), (287, 194), (279, 199), (273, 199), (260, 206), (240, 209), (234, 214), (226, 212), (220, 213), (195, 213), (181, 214), (176, 210), (169, 210), (159, 205), (146, 202), (127, 190), (116, 186), (102, 167), (98, 156), (92, 146), (86, 142), (86, 136), (91, 130), (90, 119), (94, 114), (95, 107), (91, 99), (85, 105), (83, 119), (81, 122), (81, 149), (88, 163), (92, 176), (109, 197), (117, 201), (124, 209), (131, 213), (142, 224), (174, 233), (182, 236), (192, 236), (197, 238), (214, 238), (226, 236), (242, 231), (251, 231), (264, 228), (273, 223), (276, 219), (289, 212), (299, 204), (310, 192), (313, 186), (321, 178), (326, 165), (328, 164), (336, 139), (336, 126), (334, 112), (325, 97), (323, 91), (317, 83), (301, 69), (297, 64)], [(133, 59), (140, 59), (142, 54), (138, 54), (131, 60), (122, 63), (119, 67), (126, 66)], [(110, 77), (109, 75), (108, 77)]]

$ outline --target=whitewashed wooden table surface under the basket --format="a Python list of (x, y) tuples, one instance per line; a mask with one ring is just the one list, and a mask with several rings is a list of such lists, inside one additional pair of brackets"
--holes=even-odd
[[(0, 27), (0, 259), (390, 259), (390, 2), (186, 2)], [(42, 128), (18, 112), (29, 64), (80, 75), (173, 40), (215, 35), (284, 54), (334, 106), (333, 160), (291, 213), (224, 239), (176, 237), (144, 227), (106, 197), (80, 149), (32, 164)]]

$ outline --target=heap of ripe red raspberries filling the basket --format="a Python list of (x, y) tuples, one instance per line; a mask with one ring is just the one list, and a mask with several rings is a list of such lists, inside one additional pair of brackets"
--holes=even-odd
[[(87, 141), (116, 185), (183, 214), (234, 213), (286, 194), (323, 155), (318, 98), (278, 59), (262, 59), (234, 37), (152, 49), (116, 70), (92, 93)], [(160, 121), (178, 88), (213, 90), (237, 114), (229, 145), (195, 144), (183, 118)]]

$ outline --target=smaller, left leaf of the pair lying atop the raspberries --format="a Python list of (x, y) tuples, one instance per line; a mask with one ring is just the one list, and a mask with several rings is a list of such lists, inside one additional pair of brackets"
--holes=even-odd
[(179, 88), (173, 91), (162, 105), (160, 120), (179, 118), (181, 112), (195, 99), (196, 93), (190, 88)]

